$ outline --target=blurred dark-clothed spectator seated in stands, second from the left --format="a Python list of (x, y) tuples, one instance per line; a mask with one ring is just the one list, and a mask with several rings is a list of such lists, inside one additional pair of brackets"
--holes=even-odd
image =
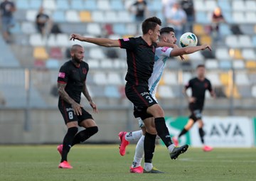
[(47, 28), (50, 26), (50, 17), (43, 11), (41, 6), (36, 15), (36, 28), (41, 35), (46, 35)]

